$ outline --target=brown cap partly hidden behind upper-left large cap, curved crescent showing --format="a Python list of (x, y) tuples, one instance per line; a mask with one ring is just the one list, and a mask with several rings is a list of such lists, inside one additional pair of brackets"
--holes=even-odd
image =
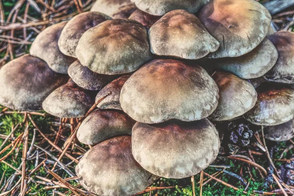
[(62, 29), (58, 47), (62, 53), (68, 56), (75, 56), (76, 45), (82, 34), (111, 18), (99, 12), (84, 12), (73, 17)]

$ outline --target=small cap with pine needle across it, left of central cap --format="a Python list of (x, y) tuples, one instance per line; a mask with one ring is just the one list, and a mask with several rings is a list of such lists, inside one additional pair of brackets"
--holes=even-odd
[(111, 95), (104, 98), (100, 103), (98, 103), (97, 107), (100, 109), (116, 109), (116, 110), (123, 110), (120, 103), (120, 95), (121, 90), (123, 88), (124, 82), (130, 77), (130, 75), (123, 75), (106, 86), (102, 88), (97, 96), (96, 96), (96, 102), (103, 98), (108, 92), (111, 91)]

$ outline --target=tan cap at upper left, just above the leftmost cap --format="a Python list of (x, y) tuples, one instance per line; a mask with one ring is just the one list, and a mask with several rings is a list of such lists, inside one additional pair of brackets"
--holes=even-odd
[(75, 60), (64, 55), (58, 48), (61, 30), (67, 22), (51, 25), (43, 30), (33, 41), (29, 53), (44, 60), (49, 68), (57, 73), (67, 73), (68, 67)]

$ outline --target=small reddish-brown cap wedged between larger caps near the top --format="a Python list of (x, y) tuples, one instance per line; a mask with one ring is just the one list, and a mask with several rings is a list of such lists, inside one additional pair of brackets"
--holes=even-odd
[(136, 11), (134, 11), (129, 17), (129, 19), (138, 21), (139, 23), (144, 25), (145, 28), (147, 29), (149, 29), (160, 18), (161, 18), (160, 16), (154, 16), (154, 15), (148, 14), (147, 12), (143, 12), (140, 9), (137, 9)]

